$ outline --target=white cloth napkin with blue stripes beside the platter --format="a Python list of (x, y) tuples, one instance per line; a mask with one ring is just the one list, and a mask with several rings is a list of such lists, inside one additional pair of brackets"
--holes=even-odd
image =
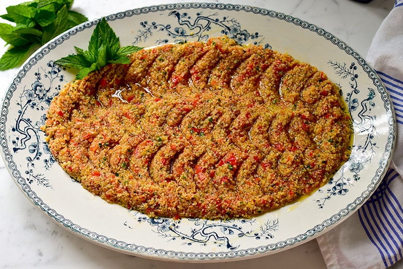
[[(379, 188), (346, 221), (317, 238), (332, 268), (386, 268), (403, 253), (403, 0), (382, 22), (367, 61), (387, 88), (396, 113), (397, 140)], [(400, 260), (395, 266), (402, 266)]]

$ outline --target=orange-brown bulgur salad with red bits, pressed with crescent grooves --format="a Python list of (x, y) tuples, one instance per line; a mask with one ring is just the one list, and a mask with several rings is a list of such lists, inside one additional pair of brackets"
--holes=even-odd
[(325, 73), (228, 37), (165, 44), (67, 84), (49, 148), (75, 180), (150, 217), (248, 218), (324, 185), (351, 120)]

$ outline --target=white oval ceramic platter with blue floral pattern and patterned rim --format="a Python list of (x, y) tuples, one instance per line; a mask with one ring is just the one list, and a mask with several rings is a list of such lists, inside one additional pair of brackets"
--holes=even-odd
[[(374, 70), (325, 30), (274, 11), (227, 4), (172, 4), (107, 17), (122, 45), (155, 46), (223, 34), (311, 63), (341, 86), (353, 118), (348, 162), (311, 196), (253, 219), (150, 219), (104, 202), (71, 180), (44, 142), (40, 126), (51, 99), (74, 74), (53, 61), (87, 48), (97, 21), (39, 49), (8, 87), (0, 117), (2, 155), (22, 192), (52, 220), (102, 246), (179, 261), (221, 261), (275, 253), (306, 242), (352, 215), (379, 185), (395, 140), (392, 104)], [(12, 206), (12, 205), (10, 205)]]

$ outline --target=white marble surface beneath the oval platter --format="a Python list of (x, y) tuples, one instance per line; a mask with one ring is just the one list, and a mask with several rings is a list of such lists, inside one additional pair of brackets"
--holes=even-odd
[[(0, 14), (21, 0), (1, 0)], [(89, 19), (111, 13), (167, 4), (166, 0), (76, 0), (73, 9)], [(190, 1), (181, 1), (190, 2)], [(196, 2), (196, 1), (191, 1)], [(209, 1), (203, 1), (209, 2)], [(217, 1), (213, 1), (217, 2)], [(380, 23), (394, 0), (360, 4), (350, 0), (238, 0), (222, 3), (257, 6), (316, 24), (344, 40), (365, 56)], [(5, 51), (0, 42), (0, 54)], [(0, 94), (7, 89), (16, 69), (0, 72)], [(324, 268), (316, 240), (280, 253), (244, 261), (188, 264), (156, 261), (105, 249), (55, 224), (21, 193), (0, 160), (0, 268)], [(331, 232), (331, 231), (330, 231)]]

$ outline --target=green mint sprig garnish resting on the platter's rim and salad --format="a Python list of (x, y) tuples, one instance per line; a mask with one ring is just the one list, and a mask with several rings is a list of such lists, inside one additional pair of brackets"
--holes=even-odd
[(83, 79), (90, 72), (99, 70), (108, 63), (130, 63), (128, 54), (143, 48), (136, 46), (120, 47), (119, 38), (105, 18), (97, 24), (92, 33), (88, 50), (75, 47), (77, 54), (63, 57), (55, 63), (79, 69), (76, 79)]

